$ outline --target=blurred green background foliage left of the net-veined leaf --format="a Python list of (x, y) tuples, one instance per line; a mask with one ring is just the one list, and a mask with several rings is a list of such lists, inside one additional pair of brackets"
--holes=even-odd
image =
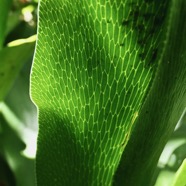
[(35, 47), (36, 8), (35, 1), (0, 1), (2, 186), (35, 185), (37, 114), (29, 97), (29, 74)]

